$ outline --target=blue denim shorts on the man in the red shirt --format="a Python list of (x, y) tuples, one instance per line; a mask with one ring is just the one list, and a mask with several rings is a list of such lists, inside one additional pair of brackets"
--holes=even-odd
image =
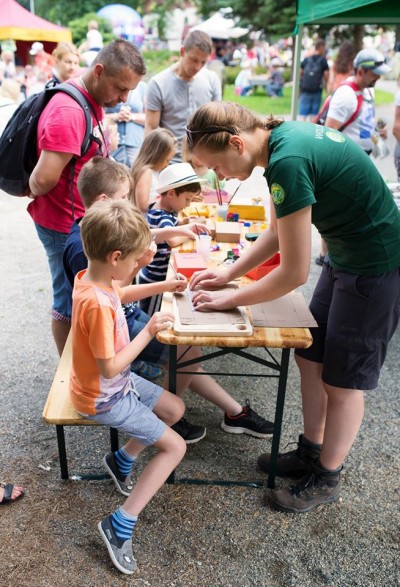
[(53, 306), (51, 315), (54, 320), (69, 323), (71, 322), (71, 318), (68, 317), (70, 313), (70, 304), (68, 302), (68, 294), (65, 288), (65, 273), (63, 265), (64, 246), (68, 234), (57, 232), (50, 228), (44, 228), (36, 223), (35, 228), (46, 251), (50, 267), (53, 285)]

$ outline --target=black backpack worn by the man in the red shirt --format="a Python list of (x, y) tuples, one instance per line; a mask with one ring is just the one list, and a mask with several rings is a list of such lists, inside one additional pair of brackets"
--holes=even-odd
[[(92, 141), (101, 144), (93, 135), (93, 108), (79, 89), (70, 83), (47, 86), (43, 92), (27, 98), (9, 120), (0, 137), (0, 189), (19, 196), (28, 186), (37, 161), (37, 126), (40, 115), (56, 92), (65, 92), (81, 106), (86, 120), (85, 137), (81, 146), (82, 157)], [(71, 173), (76, 157), (71, 160)]]

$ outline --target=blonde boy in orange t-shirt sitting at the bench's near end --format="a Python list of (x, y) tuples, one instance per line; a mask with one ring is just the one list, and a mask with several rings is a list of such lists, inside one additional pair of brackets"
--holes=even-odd
[[(85, 418), (129, 436), (103, 463), (118, 491), (128, 499), (98, 524), (111, 560), (125, 574), (136, 561), (132, 533), (137, 517), (178, 465), (186, 445), (169, 425), (184, 412), (183, 402), (130, 370), (131, 362), (173, 316), (157, 313), (132, 341), (121, 302), (136, 299), (135, 286), (119, 287), (134, 274), (151, 244), (142, 215), (126, 201), (96, 202), (81, 222), (87, 270), (75, 278), (72, 310), (71, 401)], [(157, 454), (139, 475), (131, 493), (135, 459), (154, 446)]]

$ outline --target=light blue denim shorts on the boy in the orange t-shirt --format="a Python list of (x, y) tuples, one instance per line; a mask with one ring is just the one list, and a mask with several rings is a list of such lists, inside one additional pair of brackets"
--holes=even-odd
[(161, 438), (166, 428), (166, 424), (153, 413), (163, 388), (135, 373), (131, 373), (131, 378), (140, 397), (130, 391), (108, 412), (94, 416), (82, 415), (88, 420), (124, 432), (143, 446), (151, 446)]

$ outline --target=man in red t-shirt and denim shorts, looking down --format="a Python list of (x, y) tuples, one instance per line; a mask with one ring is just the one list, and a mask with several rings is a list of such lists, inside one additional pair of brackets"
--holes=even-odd
[[(29, 197), (33, 201), (28, 212), (49, 261), (53, 282), (52, 333), (60, 355), (70, 330), (62, 255), (72, 223), (84, 215), (77, 178), (86, 161), (95, 155), (108, 155), (103, 107), (126, 102), (129, 92), (145, 73), (138, 49), (128, 41), (117, 39), (98, 53), (80, 78), (68, 82), (75, 84), (93, 107), (94, 140), (82, 157), (85, 116), (73, 98), (57, 93), (39, 119), (39, 160), (29, 180)], [(73, 157), (76, 158), (74, 167), (70, 165)]]

